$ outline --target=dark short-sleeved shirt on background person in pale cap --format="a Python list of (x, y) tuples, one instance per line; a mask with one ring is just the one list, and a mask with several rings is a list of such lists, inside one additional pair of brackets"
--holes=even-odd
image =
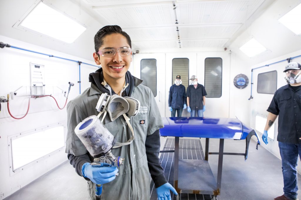
[(194, 85), (189, 85), (186, 96), (189, 97), (189, 106), (191, 110), (203, 109), (203, 96), (206, 95), (207, 93), (203, 85), (197, 84), (197, 88), (194, 88)]

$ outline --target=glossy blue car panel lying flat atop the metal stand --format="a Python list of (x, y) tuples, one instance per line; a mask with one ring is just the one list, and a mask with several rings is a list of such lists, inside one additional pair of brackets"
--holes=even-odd
[[(161, 136), (241, 139), (243, 126), (234, 118), (164, 117)], [(246, 128), (247, 130), (247, 128)]]

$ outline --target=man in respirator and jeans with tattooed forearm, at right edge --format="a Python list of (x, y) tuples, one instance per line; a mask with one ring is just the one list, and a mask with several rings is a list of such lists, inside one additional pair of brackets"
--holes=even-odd
[(284, 68), (287, 85), (279, 88), (267, 111), (268, 118), (262, 140), (268, 144), (268, 130), (278, 118), (278, 146), (282, 160), (284, 187), (282, 196), (274, 200), (296, 200), (297, 161), (301, 155), (301, 65), (291, 62)]

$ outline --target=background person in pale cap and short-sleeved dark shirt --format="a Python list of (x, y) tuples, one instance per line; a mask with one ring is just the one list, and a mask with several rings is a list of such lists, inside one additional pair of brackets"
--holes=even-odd
[(203, 112), (206, 110), (206, 90), (205, 87), (197, 83), (197, 76), (190, 77), (191, 85), (188, 86), (186, 91), (187, 96), (187, 111), (190, 112), (191, 117), (195, 117), (197, 112), (198, 117), (203, 117)]

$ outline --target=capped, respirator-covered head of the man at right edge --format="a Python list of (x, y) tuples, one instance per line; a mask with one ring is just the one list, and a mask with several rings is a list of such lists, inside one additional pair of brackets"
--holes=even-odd
[(297, 62), (291, 62), (285, 66), (285, 81), (288, 84), (300, 83), (301, 82), (301, 65)]

